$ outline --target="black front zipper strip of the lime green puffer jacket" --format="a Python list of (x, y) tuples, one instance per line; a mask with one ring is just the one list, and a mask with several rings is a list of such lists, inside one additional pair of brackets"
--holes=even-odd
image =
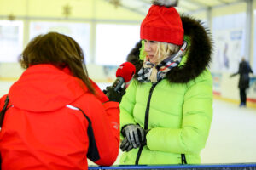
[[(149, 95), (148, 95), (148, 102), (147, 102), (147, 108), (146, 108), (146, 112), (145, 112), (145, 119), (144, 119), (144, 129), (148, 130), (148, 120), (149, 120), (149, 107), (150, 107), (150, 100), (154, 91), (155, 86), (157, 85), (158, 82), (155, 82), (152, 84), (150, 91), (149, 91)], [(140, 156), (142, 154), (143, 151), (143, 147), (145, 144), (142, 144), (139, 148), (139, 150), (137, 151), (137, 157), (136, 157), (136, 161), (135, 161), (135, 165), (138, 165), (138, 161), (140, 159)]]

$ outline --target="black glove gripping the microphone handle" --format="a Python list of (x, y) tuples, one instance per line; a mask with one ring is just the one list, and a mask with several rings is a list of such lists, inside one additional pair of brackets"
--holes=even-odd
[(125, 94), (125, 88), (119, 88), (116, 92), (112, 87), (108, 86), (106, 90), (103, 90), (103, 93), (108, 96), (109, 101), (121, 102), (123, 95)]

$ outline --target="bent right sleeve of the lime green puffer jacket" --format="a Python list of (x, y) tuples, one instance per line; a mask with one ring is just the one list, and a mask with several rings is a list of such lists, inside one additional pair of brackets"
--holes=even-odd
[(209, 72), (200, 77), (184, 94), (182, 127), (151, 129), (147, 134), (150, 150), (198, 154), (204, 148), (212, 122), (212, 77)]

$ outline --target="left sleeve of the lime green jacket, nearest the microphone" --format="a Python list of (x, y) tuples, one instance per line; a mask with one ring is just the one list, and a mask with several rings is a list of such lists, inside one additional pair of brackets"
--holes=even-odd
[[(137, 82), (132, 81), (120, 103), (120, 130), (127, 124), (136, 124), (133, 117)], [(122, 134), (121, 134), (122, 135)], [(122, 136), (121, 136), (122, 138)]]

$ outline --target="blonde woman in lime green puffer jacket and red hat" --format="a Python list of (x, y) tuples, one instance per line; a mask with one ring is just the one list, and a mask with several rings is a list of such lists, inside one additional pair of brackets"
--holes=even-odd
[(137, 72), (120, 103), (120, 164), (199, 164), (207, 142), (212, 40), (199, 20), (163, 5), (153, 2), (127, 59)]

